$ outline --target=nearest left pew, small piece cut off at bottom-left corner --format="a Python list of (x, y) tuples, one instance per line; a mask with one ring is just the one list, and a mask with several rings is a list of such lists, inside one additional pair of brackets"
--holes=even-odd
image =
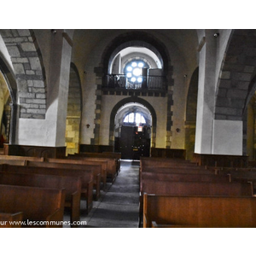
[(21, 228), (22, 212), (0, 212), (0, 228)]

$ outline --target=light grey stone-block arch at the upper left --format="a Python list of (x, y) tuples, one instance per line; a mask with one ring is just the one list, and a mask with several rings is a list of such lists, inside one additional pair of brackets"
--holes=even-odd
[(0, 33), (11, 57), (19, 88), (19, 117), (44, 119), (46, 78), (42, 54), (34, 32), (28, 29), (3, 29)]

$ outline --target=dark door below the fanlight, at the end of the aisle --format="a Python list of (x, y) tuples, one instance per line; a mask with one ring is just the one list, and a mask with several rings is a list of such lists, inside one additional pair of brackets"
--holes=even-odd
[(121, 158), (139, 160), (141, 156), (149, 156), (150, 138), (148, 127), (122, 126), (119, 143)]

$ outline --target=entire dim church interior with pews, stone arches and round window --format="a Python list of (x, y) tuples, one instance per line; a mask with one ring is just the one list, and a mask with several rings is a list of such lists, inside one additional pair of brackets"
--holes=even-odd
[(255, 228), (255, 91), (255, 29), (0, 29), (1, 225)]

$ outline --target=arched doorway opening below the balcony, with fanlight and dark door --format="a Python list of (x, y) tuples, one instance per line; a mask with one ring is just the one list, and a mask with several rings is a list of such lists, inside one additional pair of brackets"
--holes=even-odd
[(151, 144), (152, 117), (142, 104), (127, 103), (119, 108), (115, 116), (115, 151), (122, 160), (140, 160), (149, 156)]

